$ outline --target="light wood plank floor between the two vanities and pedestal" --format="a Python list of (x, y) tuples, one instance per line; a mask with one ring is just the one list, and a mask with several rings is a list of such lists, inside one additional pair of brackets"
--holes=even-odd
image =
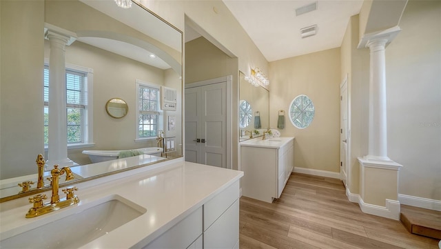
[(240, 198), (240, 248), (428, 248), (438, 239), (367, 215), (338, 179), (293, 173), (280, 199)]

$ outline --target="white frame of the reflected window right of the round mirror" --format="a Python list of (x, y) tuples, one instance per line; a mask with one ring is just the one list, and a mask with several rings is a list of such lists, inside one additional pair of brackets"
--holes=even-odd
[(141, 110), (139, 110), (139, 90), (140, 88), (153, 88), (154, 90), (158, 91), (157, 99), (156, 99), (156, 111), (151, 111), (152, 114), (155, 114), (157, 117), (157, 123), (156, 123), (156, 132), (158, 130), (163, 130), (163, 110), (161, 110), (161, 86), (156, 83), (150, 83), (147, 81), (143, 81), (141, 79), (136, 79), (136, 94), (135, 94), (135, 101), (136, 101), (136, 114), (135, 114), (135, 142), (139, 141), (148, 141), (152, 139), (156, 139), (157, 134), (152, 137), (139, 137), (139, 115)]

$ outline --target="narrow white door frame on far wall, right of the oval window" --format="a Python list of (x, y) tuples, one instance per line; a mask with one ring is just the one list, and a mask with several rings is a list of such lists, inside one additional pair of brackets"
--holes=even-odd
[[(342, 117), (343, 117), (343, 114), (341, 113), (341, 110), (342, 110), (342, 105), (343, 104), (345, 104), (346, 105), (346, 117), (347, 117), (347, 123), (346, 123), (346, 130), (344, 130), (344, 129), (342, 129), (341, 131), (340, 131), (340, 133), (341, 132), (346, 132), (346, 139), (347, 139), (347, 141), (346, 141), (346, 153), (345, 153), (345, 155), (346, 155), (346, 158), (344, 158), (344, 159), (342, 159), (341, 157), (342, 157), (342, 153), (341, 153), (341, 151), (340, 151), (340, 163), (342, 162), (342, 160), (345, 160), (345, 167), (346, 167), (346, 179), (343, 179), (344, 177), (343, 177), (343, 174), (342, 174), (342, 168), (340, 168), (340, 178), (342, 179), (342, 181), (345, 183), (345, 188), (349, 188), (349, 181), (350, 181), (350, 179), (351, 179), (351, 174), (350, 174), (350, 170), (351, 170), (351, 167), (350, 167), (350, 161), (349, 161), (349, 151), (350, 151), (350, 143), (351, 143), (351, 139), (350, 139), (350, 130), (351, 130), (351, 128), (350, 128), (350, 117), (349, 117), (349, 85), (348, 85), (348, 83), (347, 83), (347, 81), (348, 81), (348, 74), (346, 74), (346, 77), (345, 77), (345, 79), (343, 79), (343, 81), (342, 81), (342, 83), (340, 83), (340, 129), (342, 129), (342, 126), (343, 126), (343, 124), (341, 123), (342, 122)], [(343, 103), (342, 101), (343, 101), (343, 98), (342, 98), (342, 90), (344, 89), (344, 88), (346, 88), (346, 96), (345, 96), (345, 101), (346, 101), (346, 103)], [(340, 135), (340, 140), (341, 140), (341, 135)], [(340, 143), (342, 143), (342, 141), (340, 141)], [(341, 150), (341, 148), (342, 148), (342, 146), (340, 146), (340, 150)], [(340, 165), (341, 166), (341, 165)]]

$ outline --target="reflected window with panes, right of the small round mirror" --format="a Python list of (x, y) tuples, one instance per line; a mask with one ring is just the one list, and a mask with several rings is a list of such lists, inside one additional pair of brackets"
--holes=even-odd
[(159, 88), (156, 86), (137, 83), (138, 94), (138, 132), (136, 139), (156, 137), (157, 131), (161, 130), (159, 112)]

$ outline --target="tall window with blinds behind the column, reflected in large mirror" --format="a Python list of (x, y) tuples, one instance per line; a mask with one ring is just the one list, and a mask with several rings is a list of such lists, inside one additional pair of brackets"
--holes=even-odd
[[(69, 143), (85, 143), (88, 73), (66, 68), (66, 115)], [(44, 68), (44, 142), (48, 144), (49, 66)]]

